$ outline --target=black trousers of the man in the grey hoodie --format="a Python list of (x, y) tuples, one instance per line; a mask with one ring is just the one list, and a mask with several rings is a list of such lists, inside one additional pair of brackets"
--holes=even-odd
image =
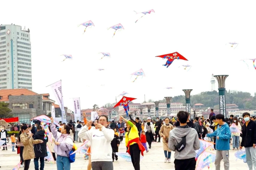
[(174, 160), (175, 170), (195, 170), (196, 164), (197, 161), (195, 160), (195, 158)]

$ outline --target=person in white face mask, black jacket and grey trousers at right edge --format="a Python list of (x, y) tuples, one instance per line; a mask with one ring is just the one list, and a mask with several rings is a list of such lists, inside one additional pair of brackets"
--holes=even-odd
[(242, 130), (242, 142), (239, 149), (245, 148), (246, 162), (249, 170), (256, 169), (256, 123), (250, 120), (250, 114), (243, 113), (244, 126)]

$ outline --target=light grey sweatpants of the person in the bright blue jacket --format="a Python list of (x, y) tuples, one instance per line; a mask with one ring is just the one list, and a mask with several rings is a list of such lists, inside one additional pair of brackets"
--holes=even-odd
[(220, 161), (223, 158), (224, 169), (229, 170), (229, 151), (216, 150), (215, 169), (220, 170)]

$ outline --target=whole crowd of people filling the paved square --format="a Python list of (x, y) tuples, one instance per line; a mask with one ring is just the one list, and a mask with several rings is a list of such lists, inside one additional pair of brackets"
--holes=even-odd
[[(164, 150), (164, 162), (171, 163), (171, 151), (174, 151), (175, 170), (195, 170), (196, 150), (200, 148), (201, 140), (213, 142), (216, 150), (215, 166), (220, 170), (223, 160), (225, 170), (229, 170), (229, 150), (245, 148), (249, 170), (256, 169), (256, 120), (245, 112), (241, 118), (230, 115), (215, 114), (213, 109), (208, 118), (204, 116), (190, 119), (190, 114), (180, 111), (177, 117), (161, 120), (158, 117), (152, 120), (141, 121), (138, 117), (129, 119), (120, 116), (119, 121), (108, 121), (107, 116), (100, 116), (95, 121), (88, 121), (83, 115), (83, 122), (72, 120), (69, 123), (59, 122), (57, 128), (51, 118), (49, 128), (51, 139), (45, 137), (45, 130), (38, 123), (31, 125), (21, 124), (17, 140), (12, 133), (12, 151), (20, 154), (21, 166), (29, 169), (33, 159), (35, 170), (43, 170), (48, 146), (57, 166), (57, 170), (70, 170), (71, 161), (69, 152), (74, 142), (87, 143), (88, 167), (87, 170), (113, 170), (113, 162), (118, 160), (119, 145), (125, 138), (126, 152), (130, 155), (135, 170), (140, 170), (140, 154), (149, 152), (152, 142), (161, 142)], [(231, 132), (230, 126), (235, 126), (241, 132)], [(242, 140), (240, 140), (242, 137)], [(1, 127), (0, 140), (6, 140), (7, 130)], [(6, 143), (2, 150), (7, 150)], [(57, 155), (57, 156), (56, 156)], [(40, 165), (39, 165), (40, 161)], [(47, 161), (47, 160), (46, 160)]]

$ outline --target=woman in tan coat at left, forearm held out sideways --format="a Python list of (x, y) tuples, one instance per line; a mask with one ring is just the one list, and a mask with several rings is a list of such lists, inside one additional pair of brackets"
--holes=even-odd
[(29, 133), (28, 126), (21, 126), (21, 135), (19, 135), (21, 143), (24, 145), (23, 159), (24, 159), (24, 170), (28, 170), (31, 159), (35, 158), (33, 144), (43, 143), (43, 140), (33, 140), (33, 134)]

